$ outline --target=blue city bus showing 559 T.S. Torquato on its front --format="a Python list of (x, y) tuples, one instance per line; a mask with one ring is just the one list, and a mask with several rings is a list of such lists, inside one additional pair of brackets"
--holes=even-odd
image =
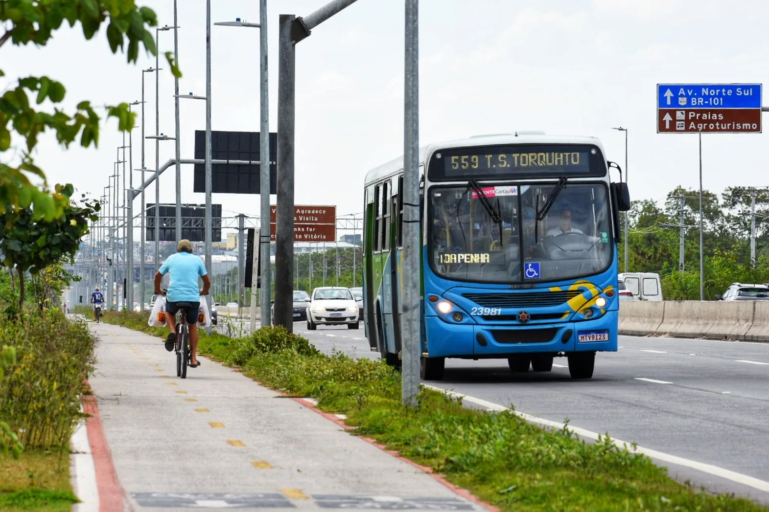
[[(620, 180), (611, 182), (610, 169)], [(421, 268), (403, 268), (403, 158), (365, 180), (363, 291), (371, 351), (401, 361), (403, 275), (421, 273), (421, 377), (447, 357), (504, 358), (591, 378), (617, 351), (621, 169), (594, 137), (482, 135), (420, 148)]]

